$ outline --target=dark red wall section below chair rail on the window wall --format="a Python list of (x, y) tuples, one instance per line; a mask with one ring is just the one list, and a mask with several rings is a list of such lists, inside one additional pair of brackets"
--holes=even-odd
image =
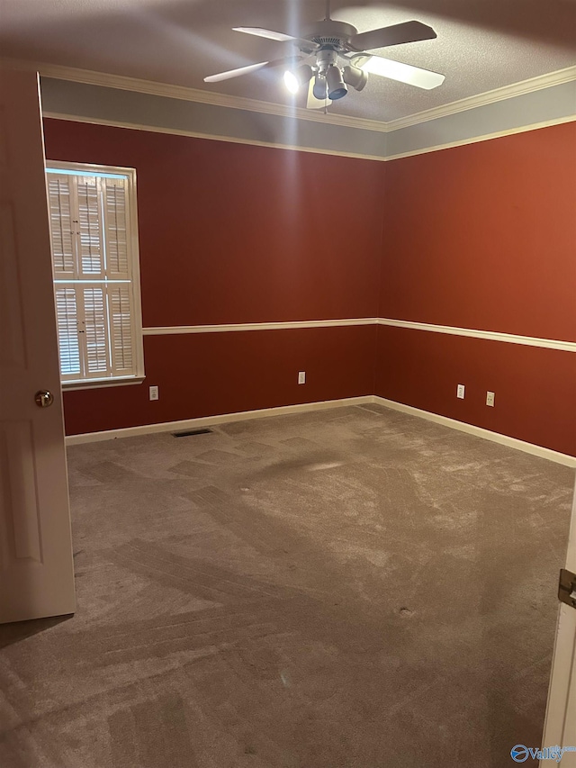
[(144, 385), (65, 393), (67, 433), (372, 393), (375, 339), (375, 326), (147, 336)]

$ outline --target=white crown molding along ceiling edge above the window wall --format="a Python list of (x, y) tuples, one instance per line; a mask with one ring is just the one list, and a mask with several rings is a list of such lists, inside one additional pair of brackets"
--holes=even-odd
[(302, 109), (301, 107), (294, 107), (288, 104), (271, 104), (270, 102), (261, 102), (257, 99), (247, 99), (244, 96), (216, 94), (212, 91), (201, 91), (197, 88), (172, 86), (152, 80), (141, 80), (138, 77), (124, 77), (123, 75), (94, 72), (90, 69), (77, 69), (74, 67), (63, 67), (58, 64), (43, 64), (41, 62), (16, 59), (0, 59), (0, 63), (11, 68), (37, 71), (40, 73), (40, 77), (69, 80), (74, 83), (83, 83), (87, 86), (117, 88), (123, 91), (164, 96), (165, 98), (180, 99), (181, 101), (195, 102), (197, 104), (211, 104), (212, 106), (240, 109), (247, 112), (272, 114), (278, 117), (329, 123), (330, 125), (362, 129), (364, 131), (386, 132), (386, 123), (376, 120), (348, 117), (344, 114), (323, 113), (319, 110)]

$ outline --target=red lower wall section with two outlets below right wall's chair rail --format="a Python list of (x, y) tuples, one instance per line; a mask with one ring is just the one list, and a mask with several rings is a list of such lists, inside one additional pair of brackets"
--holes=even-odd
[[(576, 456), (576, 356), (421, 330), (378, 329), (382, 397)], [(456, 385), (465, 385), (465, 398)], [(486, 392), (495, 393), (494, 407)]]

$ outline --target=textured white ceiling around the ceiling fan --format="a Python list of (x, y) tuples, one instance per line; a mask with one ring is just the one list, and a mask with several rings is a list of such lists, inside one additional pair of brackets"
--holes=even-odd
[[(0, 0), (0, 55), (289, 104), (282, 70), (202, 77), (294, 50), (232, 27), (298, 34), (324, 10), (323, 0)], [(335, 114), (388, 122), (576, 64), (576, 0), (334, 0), (332, 17), (360, 32), (429, 24), (437, 40), (377, 52), (446, 75), (432, 91), (373, 75)]]

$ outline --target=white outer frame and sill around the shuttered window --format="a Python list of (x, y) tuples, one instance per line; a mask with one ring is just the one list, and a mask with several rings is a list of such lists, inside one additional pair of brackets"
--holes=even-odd
[[(140, 291), (140, 266), (139, 266), (139, 238), (138, 238), (138, 200), (136, 193), (136, 168), (122, 167), (122, 166), (103, 166), (93, 163), (73, 163), (63, 160), (49, 160), (46, 159), (44, 164), (45, 179), (46, 179), (46, 194), (49, 199), (49, 173), (50, 171), (74, 171), (77, 176), (102, 176), (106, 174), (112, 174), (114, 176), (124, 176), (127, 180), (126, 185), (126, 206), (127, 216), (126, 221), (129, 228), (129, 237), (127, 238), (127, 246), (129, 251), (129, 265), (130, 265), (130, 290), (132, 297), (132, 310), (133, 316), (130, 319), (132, 328), (134, 331), (134, 354), (135, 354), (135, 366), (134, 373), (130, 375), (106, 375), (106, 376), (91, 376), (73, 380), (62, 380), (62, 371), (60, 371), (60, 385), (63, 390), (80, 390), (80, 389), (96, 389), (110, 386), (125, 386), (127, 384), (141, 384), (146, 378), (144, 372), (144, 334), (142, 332), (142, 301)], [(51, 235), (50, 235), (51, 243)], [(57, 278), (54, 275), (54, 259), (52, 257), (52, 285), (54, 286), (54, 299), (56, 301), (56, 285)], [(88, 283), (89, 281), (77, 280), (75, 284), (82, 282)], [(108, 323), (106, 324), (106, 334), (110, 332)], [(58, 339), (59, 344), (59, 339)], [(59, 356), (58, 356), (59, 367)]]

